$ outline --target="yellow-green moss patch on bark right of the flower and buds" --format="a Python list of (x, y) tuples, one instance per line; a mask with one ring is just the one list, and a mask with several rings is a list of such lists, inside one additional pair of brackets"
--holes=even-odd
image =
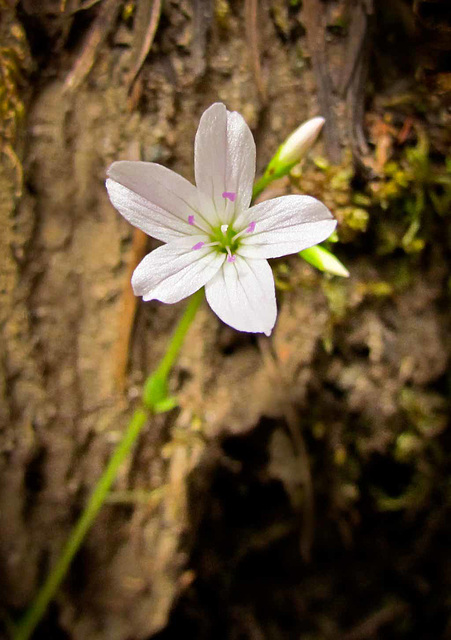
[[(296, 176), (295, 186), (316, 195), (338, 219), (340, 242), (354, 242), (367, 232), (370, 222), (376, 237), (375, 253), (389, 255), (401, 249), (406, 255), (420, 254), (432, 239), (434, 218), (451, 209), (451, 159), (431, 154), (425, 129), (415, 123), (415, 142), (396, 146), (374, 177), (356, 191), (350, 152), (339, 166), (323, 157), (313, 158)], [(377, 167), (376, 157), (368, 158)], [(318, 171), (319, 170), (319, 171)]]

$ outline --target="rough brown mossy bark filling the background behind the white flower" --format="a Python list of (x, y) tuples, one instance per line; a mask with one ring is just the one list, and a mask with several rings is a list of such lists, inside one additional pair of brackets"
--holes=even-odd
[(26, 102), (0, 171), (5, 614), (55, 562), (183, 308), (138, 303), (128, 344), (141, 249), (105, 170), (143, 159), (192, 179), (199, 117), (222, 100), (260, 171), (328, 115), (317, 163), (266, 195), (324, 200), (351, 277), (274, 261), (271, 339), (201, 309), (180, 408), (143, 433), (36, 638), (449, 637), (441, 3), (167, 1), (136, 80), (153, 27), (116, 4), (115, 20), (107, 0), (0, 5), (4, 33), (24, 29), (7, 89)]

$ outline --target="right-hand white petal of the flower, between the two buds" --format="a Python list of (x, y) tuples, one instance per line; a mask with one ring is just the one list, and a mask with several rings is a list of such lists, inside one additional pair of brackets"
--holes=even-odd
[(310, 196), (282, 196), (245, 212), (236, 228), (255, 222), (255, 231), (242, 237), (238, 253), (249, 258), (279, 258), (322, 242), (337, 221), (329, 209)]

